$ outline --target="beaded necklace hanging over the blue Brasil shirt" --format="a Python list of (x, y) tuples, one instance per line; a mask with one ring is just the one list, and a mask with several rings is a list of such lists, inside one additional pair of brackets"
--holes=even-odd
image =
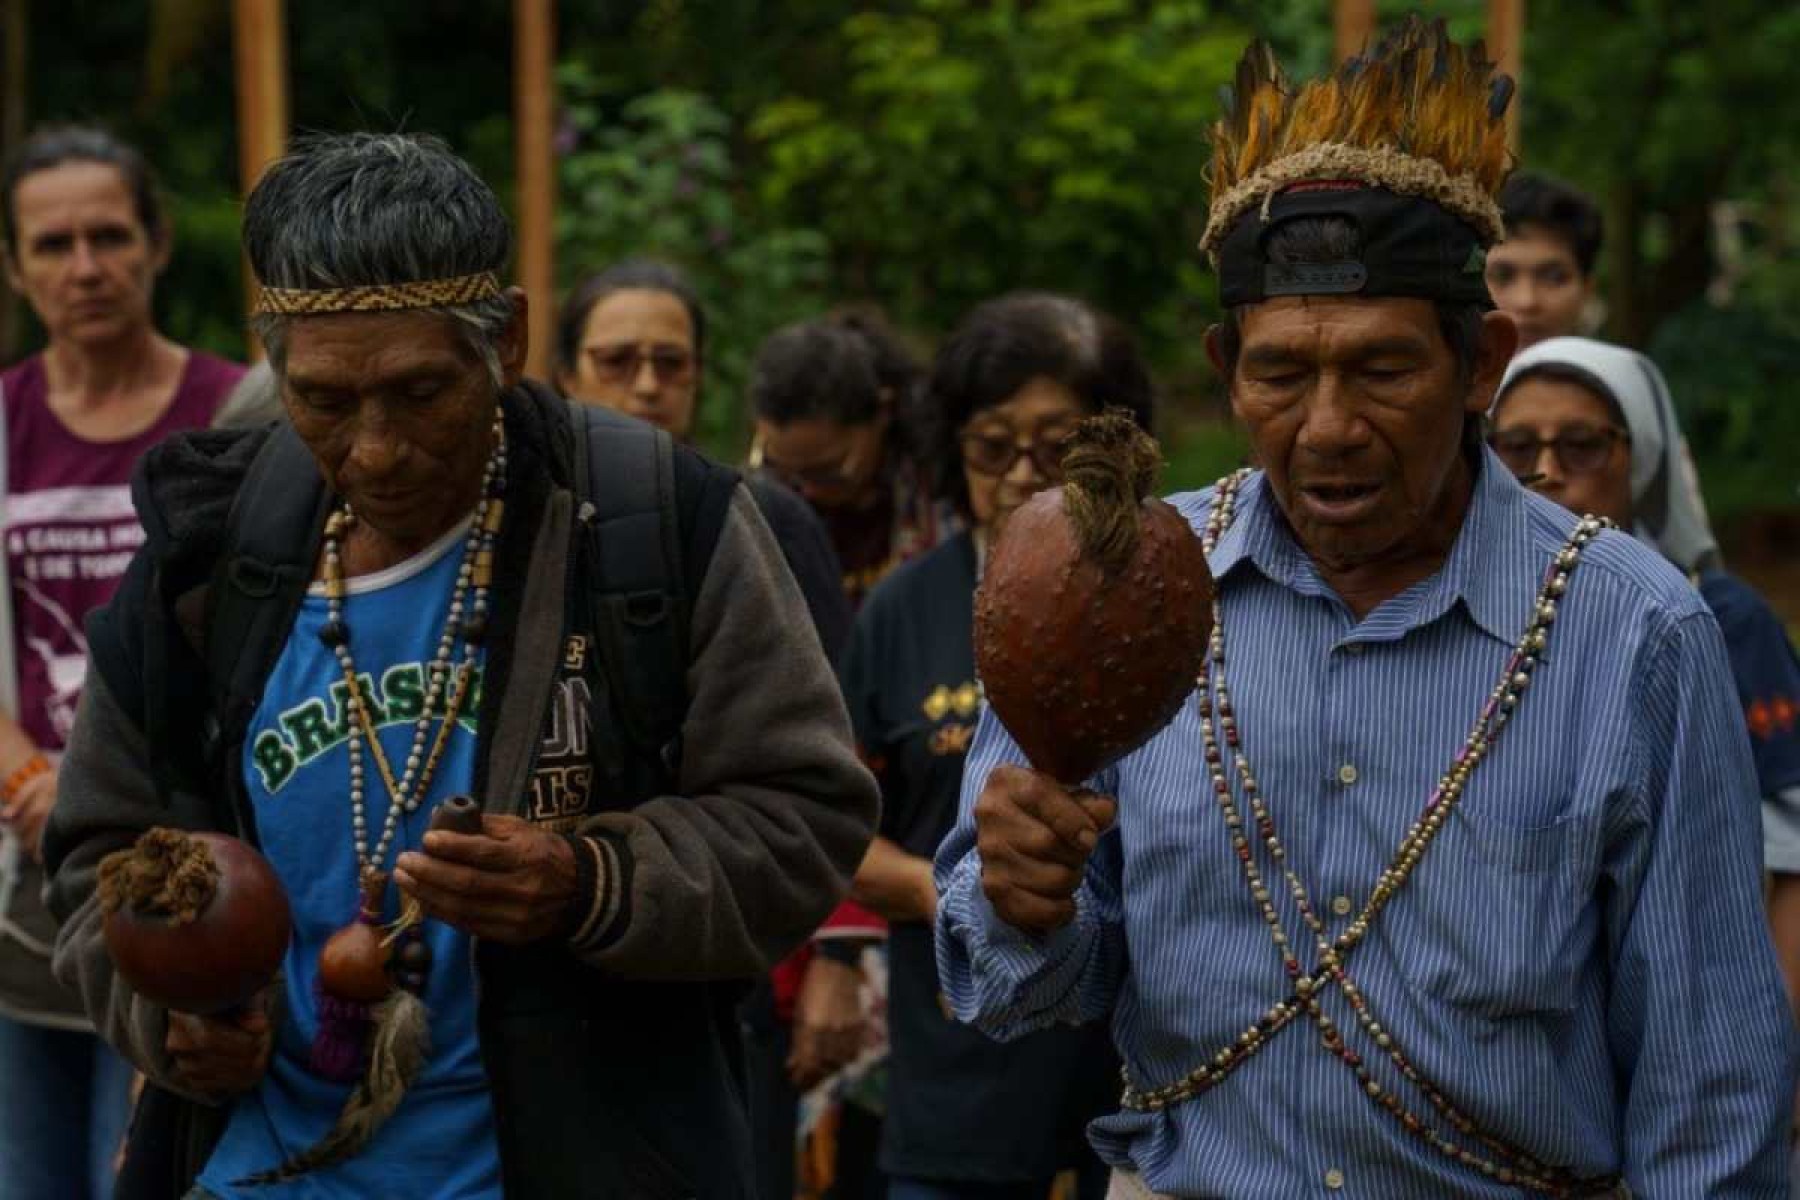
[[(443, 633), (437, 637), (437, 651), (427, 669), (425, 703), (412, 725), (412, 747), (407, 752), (405, 772), (396, 779), (394, 768), (376, 736), (374, 721), (369, 716), (369, 702), (364, 698), (362, 682), (356, 675), (356, 662), (351, 655), (349, 624), (344, 621), (344, 597), (349, 590), (344, 579), (344, 538), (356, 522), (349, 500), (326, 520), (324, 534), (324, 583), (326, 583), (326, 622), (319, 630), (319, 640), (337, 657), (344, 673), (344, 689), (351, 716), (349, 748), (349, 820), (351, 838), (356, 847), (356, 867), (364, 887), (369, 887), (387, 862), (387, 851), (400, 831), (403, 815), (416, 813), (430, 792), (432, 777), (450, 745), (450, 732), (463, 714), (468, 698), (470, 678), (475, 673), (475, 658), (488, 633), (488, 588), (493, 583), (493, 540), (500, 529), (500, 516), (506, 502), (500, 491), (506, 484), (506, 434), (499, 414), (493, 419), (493, 453), (481, 479), (481, 500), (475, 502), (475, 515), (470, 520), (468, 536), (463, 542), (463, 561), (457, 567), (455, 585), (450, 594), (450, 612), (445, 615)], [(454, 667), (457, 637), (463, 640), (463, 658)], [(445, 700), (448, 689), (448, 702)], [(437, 736), (430, 739), (432, 718), (439, 714)], [(374, 849), (369, 847), (369, 824), (364, 813), (364, 743), (374, 756), (376, 770), (387, 786), (387, 819), (382, 822), (382, 835)]]

